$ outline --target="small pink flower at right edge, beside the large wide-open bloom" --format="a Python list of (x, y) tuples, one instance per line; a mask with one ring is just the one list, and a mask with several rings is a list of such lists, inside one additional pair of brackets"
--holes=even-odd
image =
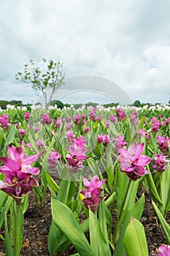
[(168, 169), (167, 163), (169, 162), (168, 159), (166, 159), (166, 156), (163, 156), (163, 153), (156, 154), (155, 158), (153, 159), (154, 165), (152, 166), (158, 173), (163, 173), (164, 170)]

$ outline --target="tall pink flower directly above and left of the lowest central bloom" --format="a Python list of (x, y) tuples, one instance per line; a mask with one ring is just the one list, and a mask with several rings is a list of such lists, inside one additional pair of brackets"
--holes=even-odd
[(86, 140), (83, 140), (83, 137), (80, 136), (80, 138), (74, 138), (72, 146), (68, 147), (69, 154), (66, 155), (68, 161), (66, 167), (68, 167), (69, 170), (77, 172), (80, 168), (84, 167), (83, 162), (88, 158), (85, 155), (88, 151), (88, 149), (85, 148), (85, 143)]

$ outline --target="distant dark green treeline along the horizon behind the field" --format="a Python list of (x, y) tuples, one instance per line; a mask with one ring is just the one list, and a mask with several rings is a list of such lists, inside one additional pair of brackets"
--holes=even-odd
[[(169, 101), (169, 104), (170, 104), (170, 101)], [(10, 100), (10, 101), (7, 101), (7, 100), (0, 100), (0, 108), (1, 109), (6, 109), (7, 108), (7, 105), (14, 105), (15, 107), (23, 107), (25, 106), (28, 110), (31, 109), (31, 105), (32, 104), (23, 104), (23, 102), (21, 100)], [(35, 105), (41, 105), (41, 103), (37, 102)], [(70, 105), (74, 105), (74, 108), (81, 108), (82, 105), (85, 105), (86, 107), (88, 106), (93, 106), (93, 107), (96, 107), (96, 105), (98, 105), (98, 103), (96, 102), (88, 102), (86, 104), (81, 104), (81, 103), (78, 103), (78, 104), (69, 104), (69, 103), (63, 103), (61, 102), (60, 100), (58, 99), (54, 99), (51, 104), (51, 106), (54, 106), (54, 105), (57, 105), (58, 108), (63, 108), (63, 107), (70, 107)], [(109, 104), (104, 104), (104, 107), (105, 108), (108, 108), (108, 107), (116, 107), (117, 105), (119, 105), (118, 102), (112, 102), (112, 103), (109, 103)], [(141, 103), (139, 100), (136, 100), (133, 104), (131, 104), (132, 106), (135, 106), (135, 107), (143, 107), (144, 105), (161, 105), (161, 103), (155, 103), (155, 104), (151, 104), (151, 103)]]

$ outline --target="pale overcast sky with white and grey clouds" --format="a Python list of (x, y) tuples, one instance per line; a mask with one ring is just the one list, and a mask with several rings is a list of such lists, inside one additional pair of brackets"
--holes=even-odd
[[(169, 0), (2, 1), (0, 99), (36, 102), (34, 91), (15, 80), (15, 74), (29, 59), (45, 58), (60, 59), (66, 79), (105, 78), (120, 86), (132, 102), (168, 103), (169, 10)], [(65, 89), (73, 91), (69, 85)], [(86, 86), (79, 84), (77, 89)], [(96, 90), (105, 92), (100, 85)], [(110, 86), (107, 94), (114, 90)], [(67, 94), (66, 101), (73, 96)]]

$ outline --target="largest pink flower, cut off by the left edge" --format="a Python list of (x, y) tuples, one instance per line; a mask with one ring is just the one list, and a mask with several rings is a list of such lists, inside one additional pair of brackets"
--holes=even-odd
[(24, 142), (21, 147), (7, 146), (9, 157), (0, 157), (4, 165), (0, 166), (0, 172), (4, 174), (4, 181), (0, 181), (0, 189), (14, 197), (15, 200), (22, 198), (32, 187), (37, 187), (38, 182), (33, 177), (39, 174), (39, 168), (31, 167), (45, 151), (29, 157), (24, 152)]

